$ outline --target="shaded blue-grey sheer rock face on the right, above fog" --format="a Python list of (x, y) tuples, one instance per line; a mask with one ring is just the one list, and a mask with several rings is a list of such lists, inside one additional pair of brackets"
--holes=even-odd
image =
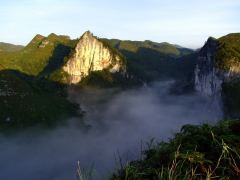
[(210, 97), (208, 111), (218, 112), (216, 119), (222, 118), (222, 83), (224, 73), (215, 65), (217, 42), (209, 38), (200, 50), (195, 66), (195, 90), (202, 96)]

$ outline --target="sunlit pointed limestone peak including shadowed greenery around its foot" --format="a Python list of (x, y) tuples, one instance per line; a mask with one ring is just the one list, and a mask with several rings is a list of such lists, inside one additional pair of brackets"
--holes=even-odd
[(117, 85), (126, 78), (125, 57), (108, 43), (85, 32), (63, 67), (50, 79), (66, 84)]

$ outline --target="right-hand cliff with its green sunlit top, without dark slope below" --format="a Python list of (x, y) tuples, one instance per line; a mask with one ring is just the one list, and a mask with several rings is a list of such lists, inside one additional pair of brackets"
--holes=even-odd
[(222, 91), (222, 83), (240, 75), (240, 35), (229, 34), (220, 39), (209, 38), (198, 53), (195, 67), (195, 89), (206, 95)]

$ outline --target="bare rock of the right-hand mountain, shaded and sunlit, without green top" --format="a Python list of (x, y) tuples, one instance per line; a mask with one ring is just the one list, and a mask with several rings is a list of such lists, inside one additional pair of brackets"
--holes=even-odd
[(219, 61), (220, 63), (222, 61), (221, 58), (224, 58), (219, 55), (218, 59), (216, 58), (216, 54), (220, 51), (218, 46), (218, 40), (209, 38), (199, 52), (195, 67), (195, 89), (209, 96), (221, 94), (222, 83), (231, 81), (240, 74), (240, 64), (236, 61), (231, 63), (235, 57), (226, 58), (225, 68), (222, 68), (223, 65), (218, 65)]

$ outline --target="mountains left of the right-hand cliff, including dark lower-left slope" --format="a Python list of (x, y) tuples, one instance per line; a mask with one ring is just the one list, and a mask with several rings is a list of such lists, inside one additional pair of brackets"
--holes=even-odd
[(0, 47), (1, 127), (78, 115), (78, 105), (67, 100), (68, 85), (128, 87), (176, 76), (176, 59), (192, 52), (168, 43), (100, 39), (89, 31), (75, 40), (52, 33), (36, 35), (26, 47)]

